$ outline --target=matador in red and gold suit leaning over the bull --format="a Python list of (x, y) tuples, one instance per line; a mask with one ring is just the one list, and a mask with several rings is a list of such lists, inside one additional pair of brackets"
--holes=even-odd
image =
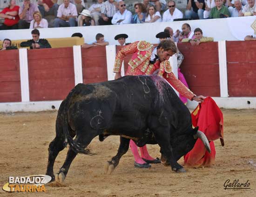
[[(128, 69), (125, 75), (153, 75), (164, 77), (181, 95), (189, 100), (202, 102), (204, 96), (196, 96), (181, 81), (179, 81), (172, 72), (172, 67), (168, 59), (177, 52), (175, 43), (171, 40), (163, 40), (157, 47), (146, 41), (137, 41), (131, 43), (119, 50), (115, 57), (114, 72), (115, 79), (121, 77), (121, 65), (123, 59), (128, 54), (133, 54), (128, 62)], [(135, 167), (148, 168), (149, 163), (161, 163), (160, 159), (152, 158), (147, 151), (147, 146), (140, 148), (141, 157), (138, 148), (133, 140), (130, 140), (130, 148), (134, 155)]]

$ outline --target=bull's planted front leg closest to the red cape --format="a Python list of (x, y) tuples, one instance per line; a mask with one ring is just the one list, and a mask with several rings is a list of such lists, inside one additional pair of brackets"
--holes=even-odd
[(164, 165), (170, 165), (175, 172), (186, 172), (182, 165), (177, 163), (173, 155), (173, 149), (169, 141), (170, 129), (168, 127), (158, 127), (158, 129), (154, 131), (154, 134), (158, 145), (161, 147), (162, 155), (164, 155)]

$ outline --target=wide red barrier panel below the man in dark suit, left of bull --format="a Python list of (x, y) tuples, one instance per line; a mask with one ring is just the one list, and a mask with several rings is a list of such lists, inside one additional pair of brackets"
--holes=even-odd
[(74, 88), (73, 48), (28, 50), (30, 101), (64, 99)]

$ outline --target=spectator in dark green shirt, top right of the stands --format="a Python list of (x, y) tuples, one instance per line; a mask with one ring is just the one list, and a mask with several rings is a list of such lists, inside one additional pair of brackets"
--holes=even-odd
[(210, 19), (230, 17), (229, 9), (223, 5), (223, 0), (215, 0), (215, 4), (216, 6), (211, 9)]

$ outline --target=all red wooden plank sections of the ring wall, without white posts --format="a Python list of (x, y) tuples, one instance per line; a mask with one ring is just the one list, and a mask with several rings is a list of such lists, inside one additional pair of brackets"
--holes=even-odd
[[(178, 48), (185, 57), (180, 68), (189, 88), (197, 95), (220, 96), (218, 43)], [(229, 96), (256, 96), (255, 42), (227, 41), (226, 48)], [(107, 81), (106, 48), (81, 49), (81, 54), (83, 83)], [(30, 101), (64, 99), (74, 88), (73, 48), (28, 50), (27, 55)], [(131, 56), (124, 59), (125, 71)], [(1, 51), (0, 59), (0, 102), (20, 102), (19, 51)]]

